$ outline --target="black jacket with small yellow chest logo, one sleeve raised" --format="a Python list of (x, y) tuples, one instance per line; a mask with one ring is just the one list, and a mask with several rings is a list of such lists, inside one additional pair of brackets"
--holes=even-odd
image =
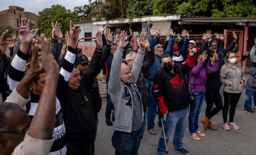
[(102, 52), (95, 49), (87, 71), (81, 78), (80, 87), (77, 90), (70, 87), (68, 89), (68, 99), (62, 106), (64, 107), (67, 143), (87, 143), (94, 138), (96, 122), (89, 90), (97, 76), (101, 56)]

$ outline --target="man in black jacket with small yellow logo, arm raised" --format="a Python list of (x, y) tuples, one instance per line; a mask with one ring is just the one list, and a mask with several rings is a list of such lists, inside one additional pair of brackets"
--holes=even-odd
[[(96, 124), (89, 90), (97, 76), (97, 68), (102, 56), (103, 43), (98, 31), (96, 32), (95, 43), (96, 49), (84, 76), (81, 78), (79, 69), (74, 66), (69, 79), (68, 98), (63, 105), (68, 155), (94, 154)], [(69, 46), (71, 45), (76, 47), (76, 43), (70, 43)]]

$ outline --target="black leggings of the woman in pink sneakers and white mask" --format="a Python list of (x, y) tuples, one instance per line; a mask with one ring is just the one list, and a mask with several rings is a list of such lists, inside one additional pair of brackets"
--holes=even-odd
[(228, 108), (229, 109), (229, 122), (234, 121), (234, 114), (236, 112), (236, 106), (240, 99), (241, 93), (227, 93), (224, 92), (224, 106), (222, 110), (223, 122), (227, 122)]

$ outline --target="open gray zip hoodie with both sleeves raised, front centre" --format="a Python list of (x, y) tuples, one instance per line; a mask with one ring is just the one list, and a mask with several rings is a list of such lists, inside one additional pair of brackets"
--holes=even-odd
[[(136, 90), (140, 98), (139, 102), (142, 115), (141, 123), (143, 122), (144, 112), (141, 96), (135, 83), (138, 79), (143, 63), (144, 50), (145, 48), (139, 48), (138, 54), (134, 60), (133, 67), (131, 69), (131, 87)], [(124, 49), (117, 47), (111, 65), (111, 75), (109, 80), (108, 93), (111, 96), (111, 101), (113, 102), (115, 108), (115, 123), (113, 127), (114, 130), (131, 133), (133, 117), (133, 100), (131, 97), (131, 90), (123, 82), (120, 81), (120, 70), (123, 52)]]

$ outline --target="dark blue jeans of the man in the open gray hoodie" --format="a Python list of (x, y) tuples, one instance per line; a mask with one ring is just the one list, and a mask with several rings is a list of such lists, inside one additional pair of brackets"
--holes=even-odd
[(131, 133), (114, 131), (112, 145), (116, 155), (135, 155), (137, 154), (139, 130)]

